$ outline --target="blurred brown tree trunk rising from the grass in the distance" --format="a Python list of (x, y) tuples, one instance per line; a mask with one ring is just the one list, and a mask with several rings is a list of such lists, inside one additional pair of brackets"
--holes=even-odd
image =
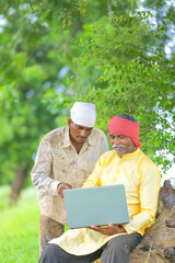
[(21, 190), (24, 185), (25, 179), (27, 175), (27, 169), (23, 167), (19, 167), (13, 184), (12, 191), (10, 196), (10, 204), (15, 204), (20, 197)]

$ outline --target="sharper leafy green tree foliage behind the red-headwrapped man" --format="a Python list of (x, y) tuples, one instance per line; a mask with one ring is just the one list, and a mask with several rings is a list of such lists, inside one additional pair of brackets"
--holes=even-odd
[[(83, 53), (77, 64), (82, 67), (91, 60), (94, 71), (98, 70), (98, 76), (91, 78), (94, 88), (83, 96), (96, 104), (98, 127), (107, 133), (112, 116), (133, 115), (141, 124), (142, 149), (166, 170), (167, 153), (175, 155), (171, 121), (174, 117), (174, 57), (166, 59), (164, 54), (154, 50), (156, 44), (159, 49), (156, 32), (152, 42), (144, 42), (150, 28), (147, 19), (145, 12), (138, 12), (129, 19), (114, 15), (113, 22), (103, 18), (84, 25), (84, 36), (80, 38)], [(166, 157), (155, 156), (163, 149)]]

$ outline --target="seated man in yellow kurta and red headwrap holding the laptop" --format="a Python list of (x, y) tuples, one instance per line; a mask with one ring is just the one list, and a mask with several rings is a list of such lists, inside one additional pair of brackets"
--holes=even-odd
[(50, 241), (39, 263), (85, 263), (98, 258), (101, 263), (127, 263), (145, 229), (153, 224), (161, 175), (139, 149), (139, 124), (132, 116), (121, 114), (110, 119), (108, 132), (114, 150), (101, 156), (83, 187), (124, 184), (129, 224), (68, 230)]

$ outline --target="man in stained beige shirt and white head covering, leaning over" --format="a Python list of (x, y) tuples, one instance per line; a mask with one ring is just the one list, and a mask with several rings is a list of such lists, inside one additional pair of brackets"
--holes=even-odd
[(79, 188), (93, 171), (100, 156), (108, 150), (105, 134), (94, 128), (95, 105), (75, 102), (68, 125), (44, 136), (32, 170), (40, 207), (39, 251), (63, 233), (67, 216), (62, 192)]

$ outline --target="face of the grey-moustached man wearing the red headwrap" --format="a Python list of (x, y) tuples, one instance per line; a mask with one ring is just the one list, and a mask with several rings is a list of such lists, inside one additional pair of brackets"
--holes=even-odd
[(115, 149), (117, 156), (122, 157), (126, 153), (131, 153), (137, 150), (137, 146), (133, 144), (130, 137), (121, 134), (109, 135), (110, 144)]

